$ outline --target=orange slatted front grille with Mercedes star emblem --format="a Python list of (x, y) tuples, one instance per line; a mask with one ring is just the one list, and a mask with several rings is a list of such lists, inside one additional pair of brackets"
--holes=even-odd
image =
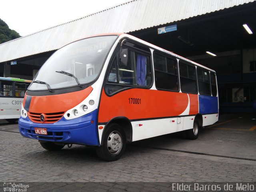
[(58, 112), (58, 113), (44, 113), (44, 122), (40, 120), (40, 115), (42, 113), (31, 113), (28, 112), (28, 117), (30, 118), (31, 121), (36, 122), (36, 123), (55, 123), (62, 116), (64, 115), (65, 112)]

